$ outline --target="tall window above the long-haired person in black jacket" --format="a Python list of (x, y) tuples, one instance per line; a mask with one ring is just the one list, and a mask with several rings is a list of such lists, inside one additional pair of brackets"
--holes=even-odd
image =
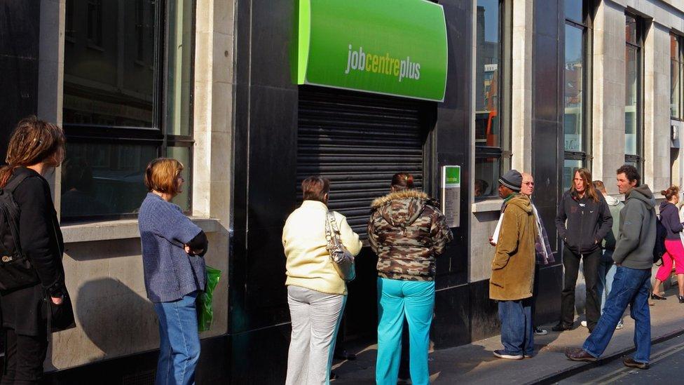
[(565, 1), (563, 65), (563, 189), (569, 189), (575, 170), (589, 167), (591, 140), (591, 16), (587, 0)]

